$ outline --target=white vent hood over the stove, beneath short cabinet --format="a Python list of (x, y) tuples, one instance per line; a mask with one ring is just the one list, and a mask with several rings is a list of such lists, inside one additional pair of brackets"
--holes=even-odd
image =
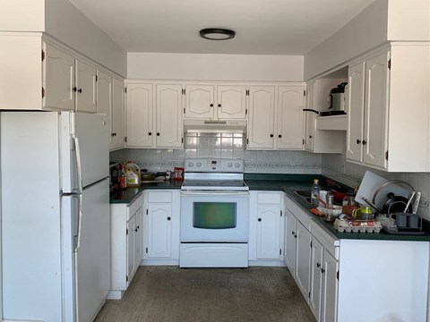
[(184, 131), (187, 132), (220, 132), (246, 133), (245, 120), (184, 120)]

